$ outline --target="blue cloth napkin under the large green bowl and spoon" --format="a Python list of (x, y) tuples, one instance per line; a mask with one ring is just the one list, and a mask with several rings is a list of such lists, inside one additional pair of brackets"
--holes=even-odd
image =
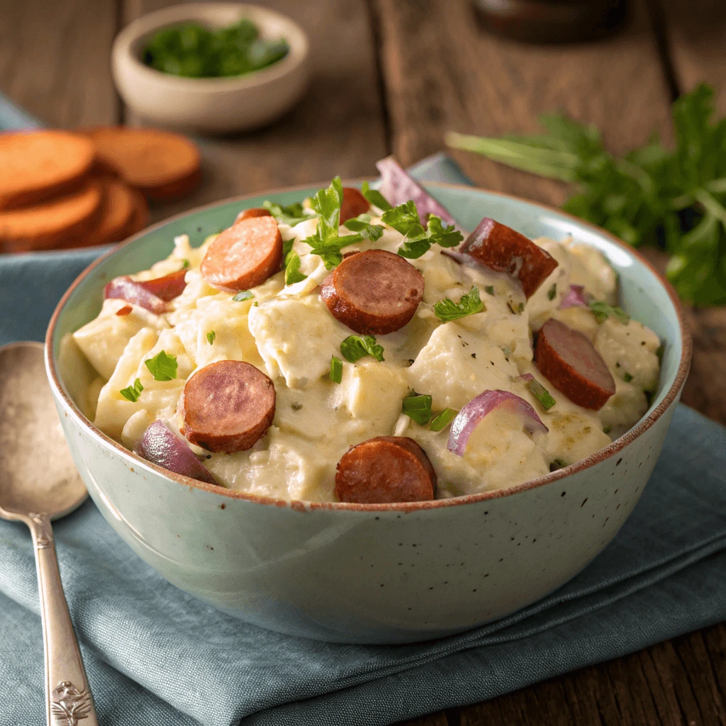
[[(466, 181), (446, 158), (415, 171)], [(0, 343), (40, 339), (55, 301), (95, 254), (1, 259)], [(582, 574), (507, 619), (417, 645), (333, 645), (246, 625), (168, 584), (92, 502), (55, 531), (103, 726), (385, 725), (726, 619), (726, 429), (679, 406), (635, 512)], [(25, 527), (4, 521), (0, 682), (0, 726), (41, 726), (33, 550)]]

